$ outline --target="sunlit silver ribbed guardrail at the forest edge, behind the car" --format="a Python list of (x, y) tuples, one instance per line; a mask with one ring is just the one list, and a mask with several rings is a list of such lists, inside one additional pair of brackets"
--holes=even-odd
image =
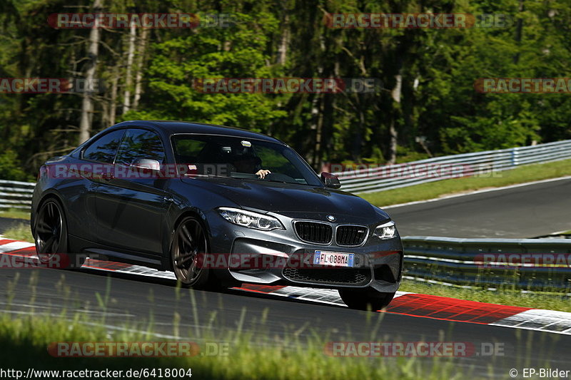
[[(571, 140), (563, 140), (518, 148), (446, 155), (411, 163), (380, 165), (377, 168), (364, 170), (335, 173), (335, 168), (332, 168), (332, 171), (338, 175), (345, 191), (376, 192), (448, 178), (492, 175), (519, 165), (569, 158), (571, 158)], [(440, 173), (434, 173), (434, 170)]]

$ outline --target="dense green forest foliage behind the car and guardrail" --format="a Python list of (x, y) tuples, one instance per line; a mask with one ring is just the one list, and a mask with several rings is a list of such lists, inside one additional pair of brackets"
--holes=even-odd
[[(74, 11), (88, 12), (93, 2), (76, 1)], [(0, 77), (83, 75), (89, 29), (46, 23), (47, 15), (69, 11), (66, 1), (0, 4)], [(128, 29), (101, 30), (96, 76), (106, 86), (94, 94), (91, 132), (113, 119), (231, 125), (284, 140), (314, 168), (324, 161), (404, 162), (427, 157), (427, 150), (444, 155), (571, 138), (568, 94), (475, 91), (478, 78), (571, 77), (571, 5), (562, 0), (522, 5), (520, 10), (519, 0), (106, 0), (104, 11), (191, 11), (202, 18), (225, 13), (233, 14), (236, 24), (152, 29), (144, 50), (143, 30), (137, 29), (130, 85)], [(331, 29), (323, 21), (326, 12), (506, 14), (512, 22), (472, 29)], [(133, 103), (136, 73), (142, 78), (141, 98), (123, 112), (126, 96)], [(391, 97), (398, 74), (400, 103)], [(288, 76), (379, 78), (383, 88), (359, 94), (209, 94), (193, 86), (203, 78)], [(81, 102), (81, 94), (0, 94), (0, 149), (13, 150), (14, 163), (35, 173), (46, 158), (77, 144)]]

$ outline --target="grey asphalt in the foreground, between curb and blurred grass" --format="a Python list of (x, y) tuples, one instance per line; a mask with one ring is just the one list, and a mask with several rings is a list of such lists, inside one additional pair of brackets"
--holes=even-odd
[[(59, 314), (62, 309), (67, 309), (90, 313), (97, 318), (102, 312), (96, 297), (99, 293), (102, 297), (108, 295), (106, 325), (109, 329), (121, 328), (128, 323), (138, 324), (139, 329), (146, 331), (152, 316), (156, 332), (172, 335), (174, 315), (178, 313), (183, 336), (190, 334), (196, 337), (197, 329), (202, 333), (206, 330), (223, 335), (228, 329), (236, 329), (241, 314), (245, 312), (244, 331), (258, 334), (266, 330), (272, 339), (284, 335), (303, 338), (318, 334), (327, 335), (327, 340), (332, 342), (470, 342), (476, 348), (482, 343), (501, 344), (500, 355), (451, 359), (471, 374), (468, 378), (506, 378), (512, 368), (520, 372), (522, 368), (529, 367), (571, 370), (571, 335), (360, 312), (232, 289), (225, 292), (181, 289), (177, 292), (172, 280), (144, 279), (90, 269), (4, 269), (0, 272), (2, 289), (7, 289), (9, 282), (14, 282), (16, 272), (19, 272), (19, 278), (11, 312), (17, 315), (26, 312)], [(36, 277), (34, 287), (29, 286), (32, 277)], [(66, 293), (66, 287), (71, 293)], [(109, 289), (108, 294), (106, 289)], [(191, 293), (196, 302), (197, 318), (193, 317)], [(32, 298), (34, 302), (30, 302)], [(265, 312), (266, 317), (263, 317)], [(213, 313), (216, 313), (216, 318), (210, 326)], [(266, 322), (261, 322), (262, 319)], [(432, 358), (420, 360), (427, 366), (433, 363)]]

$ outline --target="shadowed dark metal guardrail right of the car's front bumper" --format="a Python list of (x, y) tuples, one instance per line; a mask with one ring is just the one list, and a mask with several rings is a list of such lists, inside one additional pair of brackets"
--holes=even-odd
[(403, 275), (477, 287), (571, 289), (571, 240), (403, 237)]

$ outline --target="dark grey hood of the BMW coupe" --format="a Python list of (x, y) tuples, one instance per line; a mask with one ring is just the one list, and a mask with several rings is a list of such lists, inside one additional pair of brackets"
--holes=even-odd
[(363, 198), (329, 188), (231, 178), (183, 178), (183, 183), (215, 192), (243, 208), (291, 217), (330, 214), (339, 222), (347, 217), (370, 222), (389, 219), (386, 212)]

